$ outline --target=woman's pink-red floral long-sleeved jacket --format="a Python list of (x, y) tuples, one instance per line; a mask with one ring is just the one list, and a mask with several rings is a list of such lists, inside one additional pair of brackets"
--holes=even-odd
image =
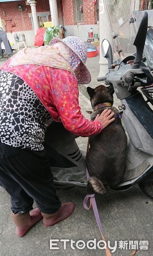
[(82, 137), (99, 134), (99, 121), (89, 121), (80, 111), (78, 82), (70, 71), (45, 65), (25, 64), (10, 67), (11, 58), (1, 69), (21, 77), (33, 89), (54, 121), (62, 121), (71, 133)]

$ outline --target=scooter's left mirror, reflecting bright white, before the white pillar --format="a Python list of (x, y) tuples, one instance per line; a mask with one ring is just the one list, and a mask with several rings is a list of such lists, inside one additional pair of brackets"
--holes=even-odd
[(105, 57), (108, 60), (108, 69), (111, 69), (111, 65), (113, 64), (113, 53), (111, 44), (107, 39), (104, 39), (101, 43), (101, 52), (103, 57)]

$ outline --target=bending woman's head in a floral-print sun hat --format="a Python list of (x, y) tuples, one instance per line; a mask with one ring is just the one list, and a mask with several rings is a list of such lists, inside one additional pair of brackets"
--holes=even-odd
[(71, 69), (75, 72), (79, 84), (88, 84), (91, 81), (90, 72), (85, 63), (87, 60), (86, 44), (76, 36), (67, 36), (64, 39), (54, 38), (50, 45), (58, 49), (70, 64)]

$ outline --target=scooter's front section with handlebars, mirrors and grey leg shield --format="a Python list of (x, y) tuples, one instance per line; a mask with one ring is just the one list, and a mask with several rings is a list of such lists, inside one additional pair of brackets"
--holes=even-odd
[(103, 40), (101, 49), (103, 57), (108, 60), (109, 72), (105, 77), (99, 77), (98, 81), (113, 84), (121, 101), (119, 109), (129, 139), (125, 176), (116, 190), (139, 184), (143, 192), (153, 197), (153, 77), (142, 61), (147, 24), (148, 14), (145, 12), (134, 40), (136, 55), (125, 57), (117, 70), (112, 68), (111, 44), (107, 39)]

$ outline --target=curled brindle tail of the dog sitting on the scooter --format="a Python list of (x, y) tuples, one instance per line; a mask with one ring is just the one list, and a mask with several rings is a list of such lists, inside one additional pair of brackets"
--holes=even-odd
[(108, 191), (107, 186), (105, 186), (99, 179), (96, 177), (90, 177), (88, 183), (91, 185), (92, 189), (99, 194), (105, 194)]

